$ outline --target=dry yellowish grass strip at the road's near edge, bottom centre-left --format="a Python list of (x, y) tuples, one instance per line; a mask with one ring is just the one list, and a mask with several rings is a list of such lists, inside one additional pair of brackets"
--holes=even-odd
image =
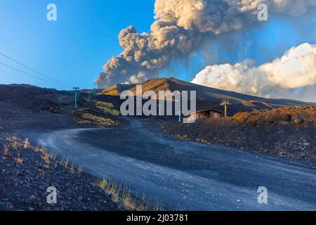
[(114, 201), (114, 203), (122, 203), (126, 210), (163, 210), (162, 204), (160, 204), (159, 202), (152, 203), (152, 201), (145, 198), (145, 195), (142, 195), (140, 198), (134, 197), (128, 187), (120, 186), (114, 181), (103, 179), (102, 181), (96, 182), (95, 186), (112, 195), (112, 200)]

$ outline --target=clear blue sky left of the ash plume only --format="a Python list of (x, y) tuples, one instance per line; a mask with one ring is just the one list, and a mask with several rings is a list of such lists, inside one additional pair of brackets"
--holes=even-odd
[[(46, 20), (46, 6), (58, 20)], [(121, 52), (120, 30), (135, 24), (140, 32), (154, 21), (154, 1), (1, 0), (0, 52), (67, 84), (92, 88), (103, 65)], [(11, 63), (3, 56), (0, 62)], [(19, 67), (21, 68), (21, 67)], [(25, 70), (24, 68), (22, 68)], [(0, 83), (55, 87), (0, 65)], [(66, 86), (67, 88), (67, 86)]]

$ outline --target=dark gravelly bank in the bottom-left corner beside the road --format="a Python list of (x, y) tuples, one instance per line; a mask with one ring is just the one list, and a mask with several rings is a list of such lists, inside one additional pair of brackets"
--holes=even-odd
[[(0, 139), (0, 181), (0, 211), (119, 210), (84, 168), (15, 137)], [(57, 190), (56, 204), (47, 203), (52, 186)]]

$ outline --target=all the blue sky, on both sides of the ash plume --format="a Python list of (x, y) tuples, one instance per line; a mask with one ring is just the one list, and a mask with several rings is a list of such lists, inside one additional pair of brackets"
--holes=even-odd
[[(46, 20), (46, 6), (50, 3), (58, 8), (58, 21)], [(134, 25), (138, 32), (148, 32), (154, 21), (153, 11), (154, 0), (1, 0), (0, 53), (72, 86), (93, 88), (103, 65), (121, 52), (117, 39), (120, 30)], [(305, 27), (303, 32), (302, 26)], [(233, 47), (214, 40), (203, 52), (218, 54), (230, 63), (251, 58), (261, 64), (282, 56), (292, 46), (303, 42), (316, 44), (315, 27), (315, 17), (291, 21), (270, 18), (256, 30), (247, 28), (236, 32)], [(28, 71), (3, 56), (0, 62)], [(190, 81), (209, 63), (220, 61), (208, 61), (196, 53), (185, 66), (183, 62), (173, 61), (161, 76)], [(0, 83), (67, 89), (67, 86), (43, 82), (2, 65)]]

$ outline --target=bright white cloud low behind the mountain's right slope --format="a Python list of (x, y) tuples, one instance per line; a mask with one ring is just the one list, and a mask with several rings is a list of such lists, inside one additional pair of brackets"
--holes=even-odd
[(313, 86), (313, 100), (310, 96), (300, 97), (316, 101), (316, 45), (301, 44), (289, 49), (282, 58), (258, 67), (251, 60), (235, 65), (209, 65), (192, 83), (273, 98), (295, 98)]

